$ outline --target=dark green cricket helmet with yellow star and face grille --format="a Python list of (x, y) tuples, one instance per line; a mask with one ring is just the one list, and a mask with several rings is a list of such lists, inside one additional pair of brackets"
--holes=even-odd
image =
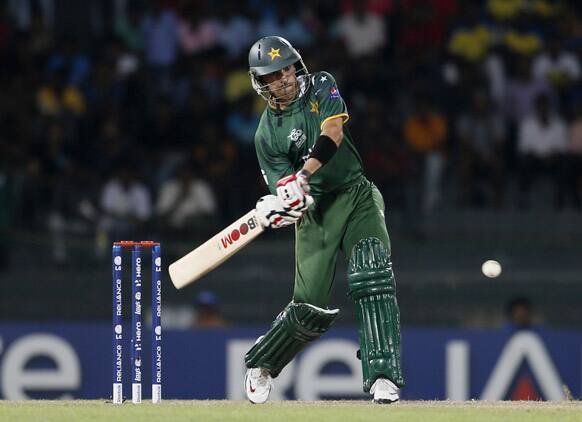
[[(257, 94), (265, 100), (277, 101), (269, 91), (269, 85), (261, 77), (277, 72), (287, 66), (295, 64), (295, 76), (298, 82), (298, 93), (304, 92), (309, 84), (309, 72), (301, 55), (289, 41), (283, 37), (263, 37), (253, 44), (249, 51), (249, 76)], [(300, 95), (295, 97), (297, 100)]]

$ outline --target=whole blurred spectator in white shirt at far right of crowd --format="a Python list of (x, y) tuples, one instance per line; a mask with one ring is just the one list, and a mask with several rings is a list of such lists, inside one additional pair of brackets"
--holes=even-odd
[(547, 175), (554, 183), (554, 206), (564, 203), (564, 165), (562, 158), (568, 146), (566, 122), (552, 113), (550, 99), (540, 95), (536, 99), (536, 111), (519, 126), (519, 197), (520, 208), (529, 207), (529, 191), (541, 175)]

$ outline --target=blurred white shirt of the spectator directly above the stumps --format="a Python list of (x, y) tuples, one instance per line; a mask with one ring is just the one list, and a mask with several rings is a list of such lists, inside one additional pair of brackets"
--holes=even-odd
[(107, 214), (117, 218), (137, 218), (146, 221), (152, 214), (150, 193), (140, 182), (125, 189), (119, 179), (112, 179), (103, 188), (101, 207)]

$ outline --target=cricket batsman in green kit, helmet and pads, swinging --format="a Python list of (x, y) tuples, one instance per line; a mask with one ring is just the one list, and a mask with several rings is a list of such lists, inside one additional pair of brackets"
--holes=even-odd
[(295, 224), (296, 258), (291, 303), (245, 356), (247, 397), (267, 401), (273, 379), (332, 325), (339, 309), (328, 305), (341, 250), (358, 321), (363, 389), (376, 403), (396, 402), (404, 378), (384, 201), (364, 176), (345, 126), (346, 104), (333, 76), (308, 73), (284, 38), (258, 40), (249, 68), (253, 88), (267, 102), (255, 147), (272, 193), (259, 199), (257, 214), (272, 229)]

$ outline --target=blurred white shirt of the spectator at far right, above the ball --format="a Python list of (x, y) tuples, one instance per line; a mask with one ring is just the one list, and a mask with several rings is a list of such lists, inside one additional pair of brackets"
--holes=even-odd
[(568, 148), (568, 129), (559, 116), (552, 116), (546, 126), (536, 116), (531, 116), (519, 126), (517, 149), (521, 154), (548, 158)]

